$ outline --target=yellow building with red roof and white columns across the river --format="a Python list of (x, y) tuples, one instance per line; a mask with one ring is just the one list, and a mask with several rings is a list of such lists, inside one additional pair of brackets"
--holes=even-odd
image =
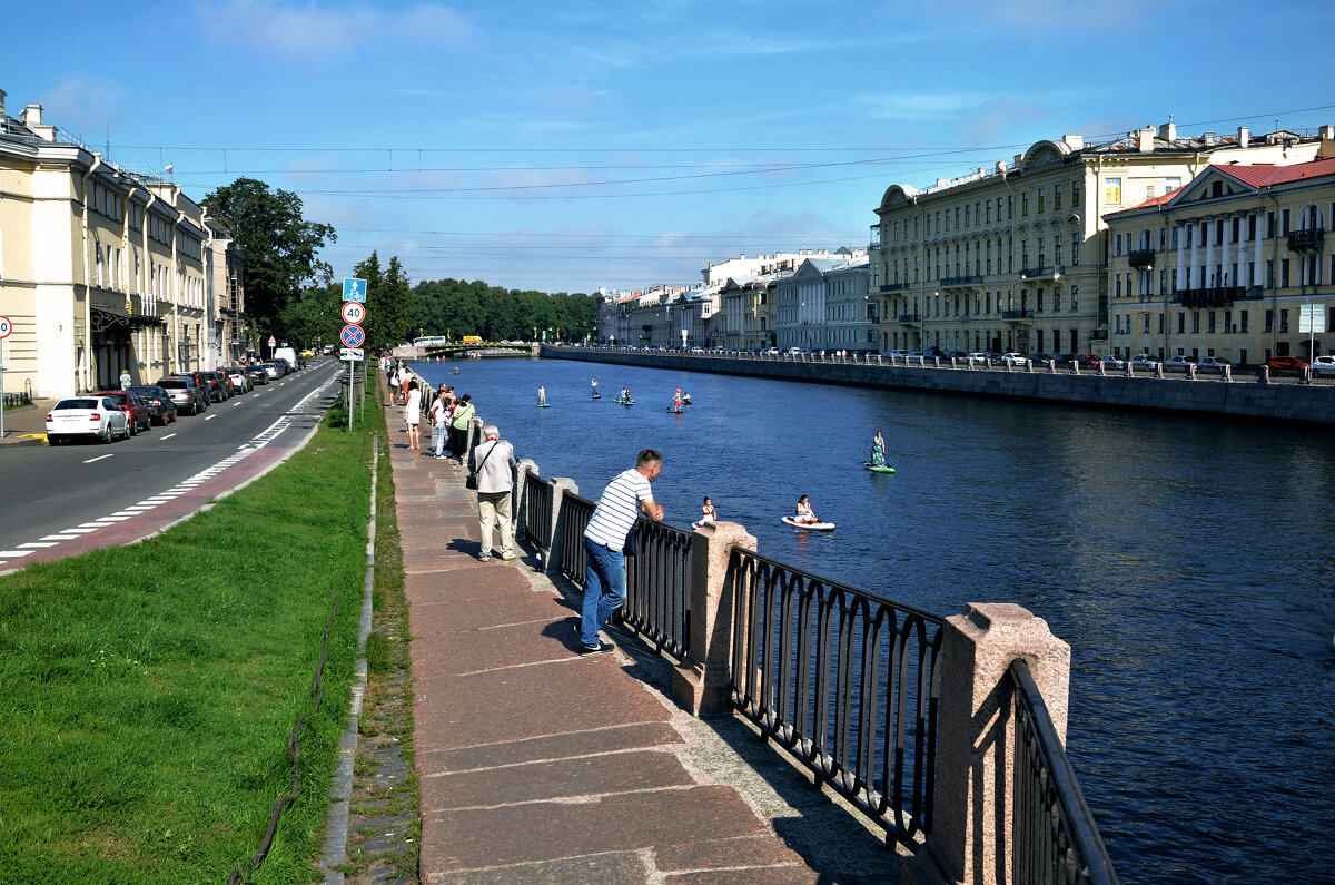
[[(1216, 164), (1105, 217), (1113, 354), (1244, 365), (1335, 349), (1335, 127), (1322, 134), (1327, 159)], [(1306, 303), (1326, 307), (1312, 333), (1299, 332)]]

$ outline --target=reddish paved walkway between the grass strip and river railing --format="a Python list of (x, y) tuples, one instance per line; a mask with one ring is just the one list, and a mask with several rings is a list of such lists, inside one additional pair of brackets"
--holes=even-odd
[(578, 656), (578, 614), (527, 556), (478, 561), (462, 468), (391, 436), (422, 880), (814, 882), (752, 802), (693, 762), (694, 721), (630, 658)]

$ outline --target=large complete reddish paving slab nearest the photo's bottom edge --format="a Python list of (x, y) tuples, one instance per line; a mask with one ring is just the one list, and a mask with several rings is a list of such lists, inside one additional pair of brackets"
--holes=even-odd
[(700, 833), (764, 832), (750, 806), (724, 786), (433, 811), (422, 815), (419, 868), (430, 880), (450, 870), (579, 857), (590, 849), (626, 852), (690, 842)]

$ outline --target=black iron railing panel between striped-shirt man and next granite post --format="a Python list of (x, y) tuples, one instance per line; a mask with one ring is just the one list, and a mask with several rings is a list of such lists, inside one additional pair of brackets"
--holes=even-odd
[(659, 654), (681, 658), (690, 651), (690, 532), (635, 521), (622, 623)]

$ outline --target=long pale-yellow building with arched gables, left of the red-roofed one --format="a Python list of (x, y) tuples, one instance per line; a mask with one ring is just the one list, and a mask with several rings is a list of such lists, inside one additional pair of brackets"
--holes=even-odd
[(1037, 142), (1011, 164), (924, 190), (894, 184), (869, 247), (880, 349), (1101, 353), (1103, 215), (1176, 190), (1210, 163), (1315, 155), (1316, 139), (1299, 142), (1254, 143), (1247, 130), (1179, 138), (1168, 123), (1103, 144)]

